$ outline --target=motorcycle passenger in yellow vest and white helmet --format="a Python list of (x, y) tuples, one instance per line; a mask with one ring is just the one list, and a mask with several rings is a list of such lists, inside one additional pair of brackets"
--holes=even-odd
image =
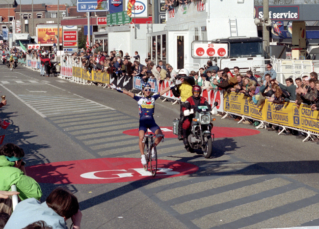
[(181, 69), (178, 72), (178, 76), (176, 79), (184, 79), (183, 84), (177, 86), (177, 88), (172, 89), (172, 92), (175, 97), (181, 97), (181, 114), (180, 114), (180, 121), (178, 123), (178, 140), (183, 140), (183, 122), (187, 117), (184, 116), (184, 112), (182, 108), (184, 107), (184, 102), (192, 95), (192, 86), (194, 86), (195, 80), (193, 77), (189, 77), (189, 72), (186, 68)]

